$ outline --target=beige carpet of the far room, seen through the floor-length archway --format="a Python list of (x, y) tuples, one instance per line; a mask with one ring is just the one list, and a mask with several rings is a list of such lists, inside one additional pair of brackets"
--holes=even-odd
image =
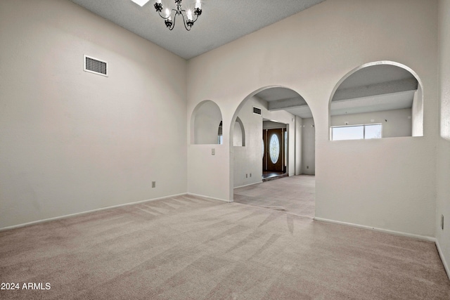
[(234, 189), (234, 202), (314, 218), (316, 179), (298, 175)]

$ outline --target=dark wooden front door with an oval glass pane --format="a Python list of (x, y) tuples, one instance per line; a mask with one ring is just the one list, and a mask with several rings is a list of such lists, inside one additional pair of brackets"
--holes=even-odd
[(264, 129), (264, 157), (263, 171), (283, 172), (284, 171), (284, 130), (285, 129)]

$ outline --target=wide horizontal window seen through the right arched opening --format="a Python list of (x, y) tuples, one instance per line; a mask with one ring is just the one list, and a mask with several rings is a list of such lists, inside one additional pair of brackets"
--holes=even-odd
[(382, 138), (382, 129), (383, 127), (381, 124), (332, 126), (331, 141)]

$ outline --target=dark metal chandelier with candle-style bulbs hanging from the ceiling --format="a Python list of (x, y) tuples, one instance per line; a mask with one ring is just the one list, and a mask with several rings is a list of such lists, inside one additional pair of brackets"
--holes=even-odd
[[(175, 0), (176, 8), (172, 8), (172, 11), (174, 11), (174, 20), (172, 21), (172, 11), (169, 10), (169, 8), (166, 8), (165, 15), (161, 15), (162, 11), (162, 4), (161, 0), (156, 0), (155, 3), (155, 9), (160, 14), (160, 17), (164, 19), (164, 22), (166, 23), (167, 28), (169, 30), (173, 30), (175, 27), (175, 19), (176, 15), (181, 15), (183, 17), (183, 24), (186, 30), (191, 30), (192, 25), (194, 25), (195, 21), (198, 19), (198, 16), (202, 14), (202, 4), (200, 3), (200, 0), (197, 0), (195, 3), (195, 9), (192, 12), (190, 9), (186, 12), (183, 8), (181, 8), (181, 0)], [(193, 18), (193, 15), (195, 15), (195, 20)]]

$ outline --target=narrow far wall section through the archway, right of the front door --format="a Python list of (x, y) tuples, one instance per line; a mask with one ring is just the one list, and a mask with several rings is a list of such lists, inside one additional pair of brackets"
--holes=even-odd
[(316, 127), (313, 118), (303, 119), (302, 174), (316, 174)]

